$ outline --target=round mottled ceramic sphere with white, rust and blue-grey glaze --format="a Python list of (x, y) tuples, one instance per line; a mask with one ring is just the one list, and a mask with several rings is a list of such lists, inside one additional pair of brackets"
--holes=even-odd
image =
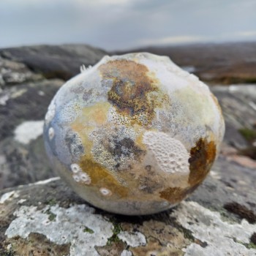
[(53, 168), (93, 206), (154, 214), (206, 178), (224, 133), (217, 99), (165, 56), (105, 56), (59, 89), (45, 116)]

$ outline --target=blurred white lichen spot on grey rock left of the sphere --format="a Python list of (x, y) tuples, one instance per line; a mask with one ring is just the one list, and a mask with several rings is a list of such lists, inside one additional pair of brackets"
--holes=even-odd
[(22, 144), (29, 144), (31, 140), (36, 140), (42, 135), (44, 121), (25, 121), (16, 127), (15, 140)]

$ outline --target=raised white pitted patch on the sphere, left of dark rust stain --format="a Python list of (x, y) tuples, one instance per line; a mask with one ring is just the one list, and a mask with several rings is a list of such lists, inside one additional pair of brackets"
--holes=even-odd
[(165, 173), (189, 173), (189, 153), (183, 144), (164, 132), (145, 132), (143, 143), (153, 152)]

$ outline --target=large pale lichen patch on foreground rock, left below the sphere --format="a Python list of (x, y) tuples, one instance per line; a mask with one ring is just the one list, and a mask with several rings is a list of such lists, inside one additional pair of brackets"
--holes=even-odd
[[(56, 215), (49, 220), (47, 212)], [(39, 233), (56, 244), (70, 243), (70, 256), (98, 256), (95, 246), (104, 246), (113, 235), (113, 225), (86, 205), (61, 208), (45, 207), (37, 211), (36, 206), (21, 206), (14, 213), (16, 219), (7, 228), (8, 238), (20, 236), (28, 238), (30, 233)], [(94, 233), (84, 232), (89, 227)]]

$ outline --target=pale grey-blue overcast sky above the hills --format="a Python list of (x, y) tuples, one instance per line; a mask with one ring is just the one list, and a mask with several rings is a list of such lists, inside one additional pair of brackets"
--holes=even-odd
[(0, 48), (256, 41), (255, 0), (0, 0)]

